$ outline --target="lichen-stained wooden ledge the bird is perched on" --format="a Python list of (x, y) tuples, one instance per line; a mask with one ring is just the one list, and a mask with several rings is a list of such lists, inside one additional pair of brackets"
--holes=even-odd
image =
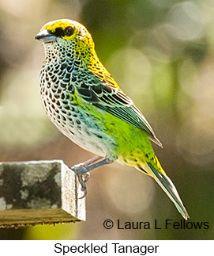
[(85, 220), (76, 174), (61, 160), (0, 162), (0, 227)]

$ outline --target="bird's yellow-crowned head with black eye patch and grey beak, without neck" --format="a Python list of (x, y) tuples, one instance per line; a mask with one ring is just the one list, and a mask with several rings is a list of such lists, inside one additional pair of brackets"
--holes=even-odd
[(40, 32), (36, 35), (36, 39), (41, 40), (44, 44), (63, 44), (65, 42), (69, 44), (76, 42), (76, 44), (81, 46), (94, 47), (92, 36), (84, 25), (67, 19), (51, 21), (43, 25)]

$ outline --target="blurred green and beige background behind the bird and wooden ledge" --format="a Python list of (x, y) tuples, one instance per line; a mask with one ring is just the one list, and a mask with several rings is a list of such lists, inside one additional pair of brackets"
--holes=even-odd
[[(201, 230), (111, 230), (103, 221), (180, 221), (152, 178), (112, 164), (88, 181), (87, 221), (0, 230), (0, 239), (214, 238), (214, 2), (176, 0), (2, 0), (0, 2), (0, 161), (92, 157), (58, 132), (39, 97), (47, 22), (80, 21), (99, 59), (152, 125), (156, 147), (190, 221)], [(130, 138), (132, 139), (132, 138)]]

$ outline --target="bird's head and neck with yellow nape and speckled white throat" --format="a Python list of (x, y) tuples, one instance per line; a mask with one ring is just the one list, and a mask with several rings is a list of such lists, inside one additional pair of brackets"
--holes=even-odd
[(43, 25), (36, 39), (43, 42), (45, 63), (64, 63), (69, 59), (82, 69), (101, 70), (103, 74), (109, 74), (96, 55), (91, 34), (77, 21), (50, 21)]

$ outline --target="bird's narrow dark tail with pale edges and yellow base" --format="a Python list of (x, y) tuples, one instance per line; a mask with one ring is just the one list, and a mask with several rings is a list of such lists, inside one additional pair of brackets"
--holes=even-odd
[(171, 201), (175, 204), (178, 212), (181, 213), (185, 220), (190, 218), (186, 208), (182, 204), (182, 200), (178, 195), (175, 185), (172, 183), (171, 179), (167, 177), (163, 168), (160, 166), (160, 162), (155, 157), (154, 162), (148, 162), (147, 164), (142, 164), (137, 166), (138, 170), (144, 171), (149, 176), (152, 176), (156, 182), (160, 185), (163, 191), (170, 197)]

